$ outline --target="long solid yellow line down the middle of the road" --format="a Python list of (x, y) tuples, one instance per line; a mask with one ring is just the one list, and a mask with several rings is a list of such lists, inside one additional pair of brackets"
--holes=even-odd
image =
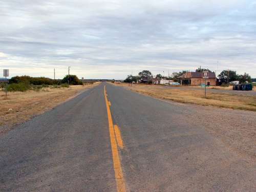
[(114, 170), (115, 170), (116, 188), (117, 188), (118, 192), (125, 192), (126, 191), (125, 180), (123, 178), (123, 171), (122, 171), (120, 157), (118, 154), (113, 120), (112, 120), (112, 116), (111, 116), (108, 98), (106, 97), (106, 87), (105, 86), (104, 86), (104, 96), (105, 96), (105, 102), (106, 102), (106, 111), (108, 113), (108, 119), (109, 119), (110, 142), (111, 142), (111, 148), (112, 148), (113, 165), (114, 165)]

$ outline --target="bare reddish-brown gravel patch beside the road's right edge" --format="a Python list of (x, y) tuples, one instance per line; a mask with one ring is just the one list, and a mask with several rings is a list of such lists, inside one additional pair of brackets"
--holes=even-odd
[(248, 162), (256, 162), (256, 112), (188, 104), (186, 119), (201, 126)]

